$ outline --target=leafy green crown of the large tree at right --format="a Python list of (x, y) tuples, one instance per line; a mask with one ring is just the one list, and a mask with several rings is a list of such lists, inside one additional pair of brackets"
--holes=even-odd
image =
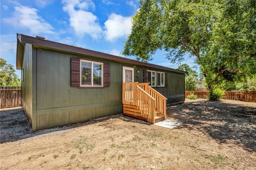
[(141, 1), (124, 55), (149, 61), (156, 50), (180, 63), (195, 56), (210, 92), (222, 80), (256, 73), (256, 1)]

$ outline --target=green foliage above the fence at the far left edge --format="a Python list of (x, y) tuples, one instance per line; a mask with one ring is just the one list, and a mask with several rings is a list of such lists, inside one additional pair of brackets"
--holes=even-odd
[(21, 86), (13, 65), (7, 64), (3, 58), (0, 58), (0, 86)]

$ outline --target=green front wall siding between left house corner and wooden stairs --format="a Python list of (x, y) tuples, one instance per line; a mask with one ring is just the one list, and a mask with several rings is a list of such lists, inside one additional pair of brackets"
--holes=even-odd
[(82, 56), (40, 48), (36, 56), (37, 130), (122, 113), (120, 63), (108, 62), (110, 87), (78, 89), (70, 86), (70, 58)]

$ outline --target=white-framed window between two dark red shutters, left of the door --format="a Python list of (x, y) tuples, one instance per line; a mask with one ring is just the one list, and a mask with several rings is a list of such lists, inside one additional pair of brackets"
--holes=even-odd
[(103, 86), (103, 63), (81, 60), (80, 66), (80, 86)]

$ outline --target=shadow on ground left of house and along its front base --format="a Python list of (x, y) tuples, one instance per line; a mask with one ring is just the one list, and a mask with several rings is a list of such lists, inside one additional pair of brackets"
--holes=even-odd
[(13, 142), (21, 139), (35, 137), (41, 134), (69, 130), (69, 129), (77, 128), (79, 126), (103, 122), (106, 120), (110, 120), (111, 118), (121, 118), (123, 121), (126, 121), (126, 122), (148, 124), (145, 121), (140, 121), (134, 118), (126, 117), (126, 116), (123, 116), (122, 114), (117, 114), (117, 115), (112, 115), (106, 118), (100, 118), (98, 120), (74, 123), (74, 124), (63, 125), (55, 128), (32, 132), (30, 125), (28, 123), (27, 117), (23, 112), (23, 109), (20, 107), (17, 107), (13, 109), (5, 109), (0, 112), (0, 129), (1, 129), (0, 143)]

